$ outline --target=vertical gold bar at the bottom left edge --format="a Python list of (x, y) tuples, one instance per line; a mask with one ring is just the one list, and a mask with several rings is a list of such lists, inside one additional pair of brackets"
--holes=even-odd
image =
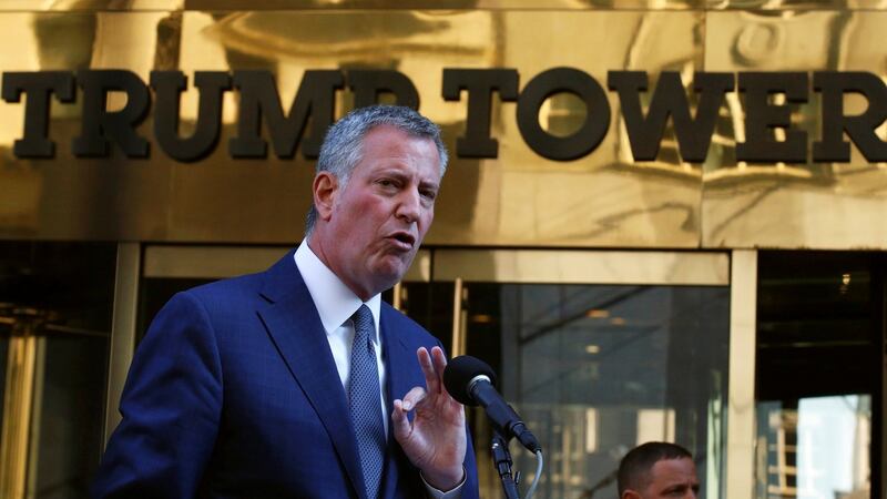
[(0, 436), (0, 497), (3, 498), (23, 499), (26, 495), (35, 360), (35, 336), (10, 337)]

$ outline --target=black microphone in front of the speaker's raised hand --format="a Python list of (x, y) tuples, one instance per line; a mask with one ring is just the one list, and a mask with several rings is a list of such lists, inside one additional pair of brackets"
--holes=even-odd
[(533, 434), (520, 416), (496, 390), (496, 373), (483, 360), (462, 355), (453, 358), (443, 369), (443, 386), (465, 406), (480, 405), (496, 429), (507, 439), (514, 437), (530, 452), (542, 450)]

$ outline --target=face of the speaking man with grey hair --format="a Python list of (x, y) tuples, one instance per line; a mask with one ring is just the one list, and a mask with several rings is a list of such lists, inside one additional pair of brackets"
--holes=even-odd
[[(361, 299), (400, 281), (435, 217), (440, 159), (430, 139), (387, 125), (364, 138), (361, 161), (330, 194), (326, 264)], [(322, 214), (322, 216), (324, 216)]]

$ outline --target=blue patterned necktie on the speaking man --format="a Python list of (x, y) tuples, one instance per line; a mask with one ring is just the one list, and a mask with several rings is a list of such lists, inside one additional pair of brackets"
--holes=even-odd
[(369, 307), (360, 308), (351, 316), (354, 322), (354, 343), (351, 344), (351, 380), (348, 386), (348, 404), (351, 422), (357, 435), (357, 450), (360, 454), (360, 469), (367, 497), (379, 497), (381, 471), (385, 462), (385, 426), (383, 426), (379, 391), (379, 369), (376, 366), (376, 350), (373, 338), (376, 326)]

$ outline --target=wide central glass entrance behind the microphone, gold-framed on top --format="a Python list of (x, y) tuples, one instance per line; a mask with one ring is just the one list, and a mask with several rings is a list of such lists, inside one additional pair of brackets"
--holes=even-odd
[[(620, 458), (650, 440), (695, 456), (703, 497), (724, 497), (730, 364), (725, 253), (432, 252), (402, 309), (489, 363), (541, 440), (539, 498), (615, 497)], [(481, 497), (501, 497), (491, 431), (469, 414)], [(536, 459), (512, 446), (524, 483)]]

